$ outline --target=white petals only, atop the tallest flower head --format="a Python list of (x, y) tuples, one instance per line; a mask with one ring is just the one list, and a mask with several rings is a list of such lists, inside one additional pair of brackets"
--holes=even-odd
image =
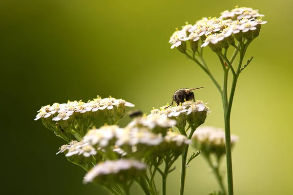
[(187, 24), (181, 30), (175, 31), (170, 37), (171, 49), (179, 47), (182, 41), (186, 40), (197, 41), (202, 39), (204, 43), (201, 47), (205, 47), (209, 43), (217, 44), (219, 41), (239, 32), (254, 31), (257, 29), (256, 26), (267, 23), (257, 19), (257, 17), (264, 16), (257, 11), (246, 7), (235, 8), (230, 12), (224, 11), (220, 18), (203, 18), (192, 26)]

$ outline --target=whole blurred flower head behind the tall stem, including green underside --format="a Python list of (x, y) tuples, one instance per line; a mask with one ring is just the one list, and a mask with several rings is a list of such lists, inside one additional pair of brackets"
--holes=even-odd
[[(204, 154), (215, 154), (218, 158), (225, 154), (225, 132), (214, 127), (199, 127), (193, 133), (191, 140), (194, 146)], [(238, 136), (231, 135), (231, 146), (238, 141)]]

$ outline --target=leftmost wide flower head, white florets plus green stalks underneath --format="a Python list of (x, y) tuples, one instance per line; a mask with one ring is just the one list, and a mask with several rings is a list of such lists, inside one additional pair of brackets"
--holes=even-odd
[[(81, 140), (98, 116), (104, 117), (108, 124), (115, 124), (124, 116), (126, 107), (133, 106), (134, 104), (124, 99), (112, 97), (102, 99), (98, 96), (87, 103), (80, 100), (43, 106), (38, 111), (35, 120), (42, 118), (46, 128), (54, 131), (57, 136), (66, 141), (70, 141), (72, 136)], [(83, 125), (74, 125), (73, 127), (72, 124)], [(68, 134), (72, 135), (68, 136)]]

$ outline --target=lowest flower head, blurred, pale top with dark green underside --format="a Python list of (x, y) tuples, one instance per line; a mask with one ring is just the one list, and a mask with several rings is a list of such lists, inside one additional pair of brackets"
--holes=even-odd
[(134, 159), (107, 160), (97, 164), (85, 176), (84, 183), (94, 182), (104, 185), (126, 183), (144, 173), (147, 165)]

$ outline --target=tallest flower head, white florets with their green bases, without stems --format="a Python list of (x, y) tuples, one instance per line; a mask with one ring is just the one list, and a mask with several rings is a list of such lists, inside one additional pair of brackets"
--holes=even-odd
[[(198, 44), (201, 47), (209, 45), (212, 51), (219, 52), (222, 48), (227, 49), (229, 45), (234, 46), (234, 38), (243, 41), (242, 38), (252, 40), (260, 31), (260, 25), (267, 23), (262, 21), (264, 15), (258, 10), (247, 7), (236, 7), (231, 11), (224, 11), (219, 18), (203, 18), (194, 25), (185, 25), (180, 31), (171, 36), (169, 43), (171, 48), (179, 47), (180, 52), (186, 52), (186, 41), (190, 40), (190, 49), (197, 52)], [(231, 36), (232, 35), (232, 36)], [(201, 40), (199, 42), (199, 40)]]

